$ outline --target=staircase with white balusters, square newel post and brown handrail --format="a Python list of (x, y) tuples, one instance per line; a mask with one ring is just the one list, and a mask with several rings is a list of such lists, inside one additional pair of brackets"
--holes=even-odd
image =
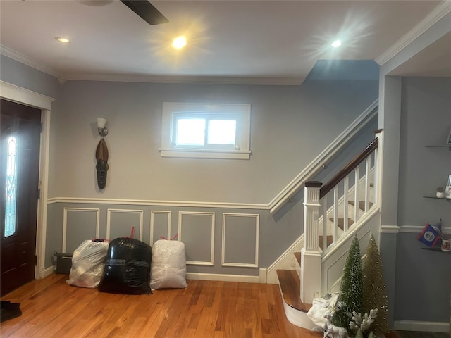
[(371, 233), (378, 237), (374, 225), (378, 223), (371, 220), (378, 215), (379, 208), (381, 137), (378, 130), (376, 139), (328, 183), (305, 184), (304, 248), (292, 258), (295, 270), (277, 270), (290, 323), (312, 329), (314, 323), (307, 317), (311, 301), (338, 291), (343, 257), (347, 256), (352, 235), (357, 233), (365, 245)]

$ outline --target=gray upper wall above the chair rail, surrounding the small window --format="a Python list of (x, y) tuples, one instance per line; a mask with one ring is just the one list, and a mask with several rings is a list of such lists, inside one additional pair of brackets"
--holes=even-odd
[[(377, 81), (300, 87), (68, 81), (51, 125), (49, 198), (268, 204), (377, 98)], [(161, 158), (164, 101), (249, 103), (249, 161)], [(108, 120), (106, 189), (96, 188), (95, 119)]]

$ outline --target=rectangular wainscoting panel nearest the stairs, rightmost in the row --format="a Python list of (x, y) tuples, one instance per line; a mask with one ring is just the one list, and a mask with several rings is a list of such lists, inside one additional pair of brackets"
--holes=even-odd
[[(259, 222), (259, 214), (223, 213), (221, 265), (247, 268), (259, 267)], [(253, 229), (248, 230), (245, 227), (253, 227)], [(230, 229), (229, 232), (227, 231), (228, 229)], [(254, 247), (252, 248), (252, 246)], [(249, 250), (252, 249), (254, 249), (254, 252), (249, 253)], [(235, 261), (228, 261), (228, 258), (226, 258), (227, 250), (233, 251), (232, 256), (234, 257), (232, 259)], [(253, 257), (247, 262), (239, 261), (238, 257), (243, 258), (246, 254), (249, 255), (249, 258), (250, 256)]]

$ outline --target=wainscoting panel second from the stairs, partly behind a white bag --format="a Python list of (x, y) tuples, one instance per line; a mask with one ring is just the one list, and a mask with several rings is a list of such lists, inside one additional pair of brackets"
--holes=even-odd
[[(185, 243), (187, 264), (214, 265), (214, 216), (215, 213), (179, 211), (178, 239)], [(187, 228), (190, 230), (184, 231)], [(208, 246), (209, 242), (209, 257), (203, 259), (204, 252), (199, 252), (199, 248)]]

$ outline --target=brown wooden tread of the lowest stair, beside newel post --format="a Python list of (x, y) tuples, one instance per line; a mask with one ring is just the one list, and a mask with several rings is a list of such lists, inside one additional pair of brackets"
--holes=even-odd
[(301, 301), (301, 282), (295, 270), (277, 270), (280, 290), (288, 306), (298, 311), (308, 312), (311, 304)]

